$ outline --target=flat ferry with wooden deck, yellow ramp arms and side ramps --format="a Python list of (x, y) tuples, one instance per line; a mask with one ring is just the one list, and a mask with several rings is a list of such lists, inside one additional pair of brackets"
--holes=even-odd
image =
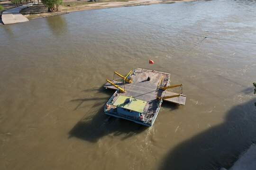
[[(106, 79), (104, 87), (116, 90), (104, 107), (107, 115), (152, 126), (163, 101), (185, 105), (183, 84), (169, 85), (170, 73), (147, 68), (131, 70), (127, 76), (114, 73), (123, 81)], [(167, 91), (174, 87), (179, 87), (181, 93)]]

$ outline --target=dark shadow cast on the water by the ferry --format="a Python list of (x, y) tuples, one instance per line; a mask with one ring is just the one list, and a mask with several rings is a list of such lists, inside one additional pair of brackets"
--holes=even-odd
[[(110, 96), (114, 93), (114, 91), (104, 92), (110, 94)], [(109, 98), (99, 99), (96, 97), (73, 100), (72, 102), (79, 102), (74, 110), (81, 108), (82, 102), (90, 100), (94, 100), (95, 102), (91, 106), (91, 109), (87, 110), (85, 116), (70, 130), (69, 137), (78, 137), (86, 141), (97, 142), (101, 137), (111, 134), (111, 136), (121, 136), (121, 140), (125, 140), (148, 128), (129, 120), (104, 114), (104, 105)], [(104, 102), (102, 102), (102, 100), (104, 100)], [(101, 106), (101, 109), (95, 111), (94, 108), (99, 108), (99, 106)]]

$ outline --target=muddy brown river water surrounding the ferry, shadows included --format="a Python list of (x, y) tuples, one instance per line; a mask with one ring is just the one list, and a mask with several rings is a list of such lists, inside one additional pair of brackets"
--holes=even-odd
[[(255, 0), (97, 9), (0, 26), (0, 169), (229, 168), (256, 141), (255, 28)], [(163, 103), (152, 127), (103, 113), (113, 93), (102, 88), (105, 79), (138, 67), (171, 73), (187, 95), (185, 106)]]

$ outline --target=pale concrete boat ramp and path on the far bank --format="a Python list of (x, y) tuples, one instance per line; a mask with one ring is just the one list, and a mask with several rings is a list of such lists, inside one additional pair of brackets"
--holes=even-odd
[(19, 6), (17, 8), (12, 8), (6, 10), (2, 13), (2, 22), (3, 24), (16, 24), (21, 22), (29, 21), (26, 17), (19, 13), (19, 11), (23, 8), (27, 8), (34, 5), (34, 3), (29, 3), (26, 5)]

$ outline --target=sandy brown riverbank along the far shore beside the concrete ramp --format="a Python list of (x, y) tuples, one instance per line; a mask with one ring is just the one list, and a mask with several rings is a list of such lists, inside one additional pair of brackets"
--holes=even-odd
[(57, 12), (48, 12), (43, 4), (34, 5), (29, 8), (22, 9), (20, 13), (28, 19), (36, 19), (42, 17), (52, 17), (62, 14), (67, 14), (75, 11), (91, 10), (99, 8), (114, 8), (114, 7), (131, 7), (139, 5), (151, 5), (159, 3), (175, 3), (183, 1), (195, 0), (103, 0), (101, 2), (88, 2), (88, 0), (66, 0), (63, 5), (59, 7)]

